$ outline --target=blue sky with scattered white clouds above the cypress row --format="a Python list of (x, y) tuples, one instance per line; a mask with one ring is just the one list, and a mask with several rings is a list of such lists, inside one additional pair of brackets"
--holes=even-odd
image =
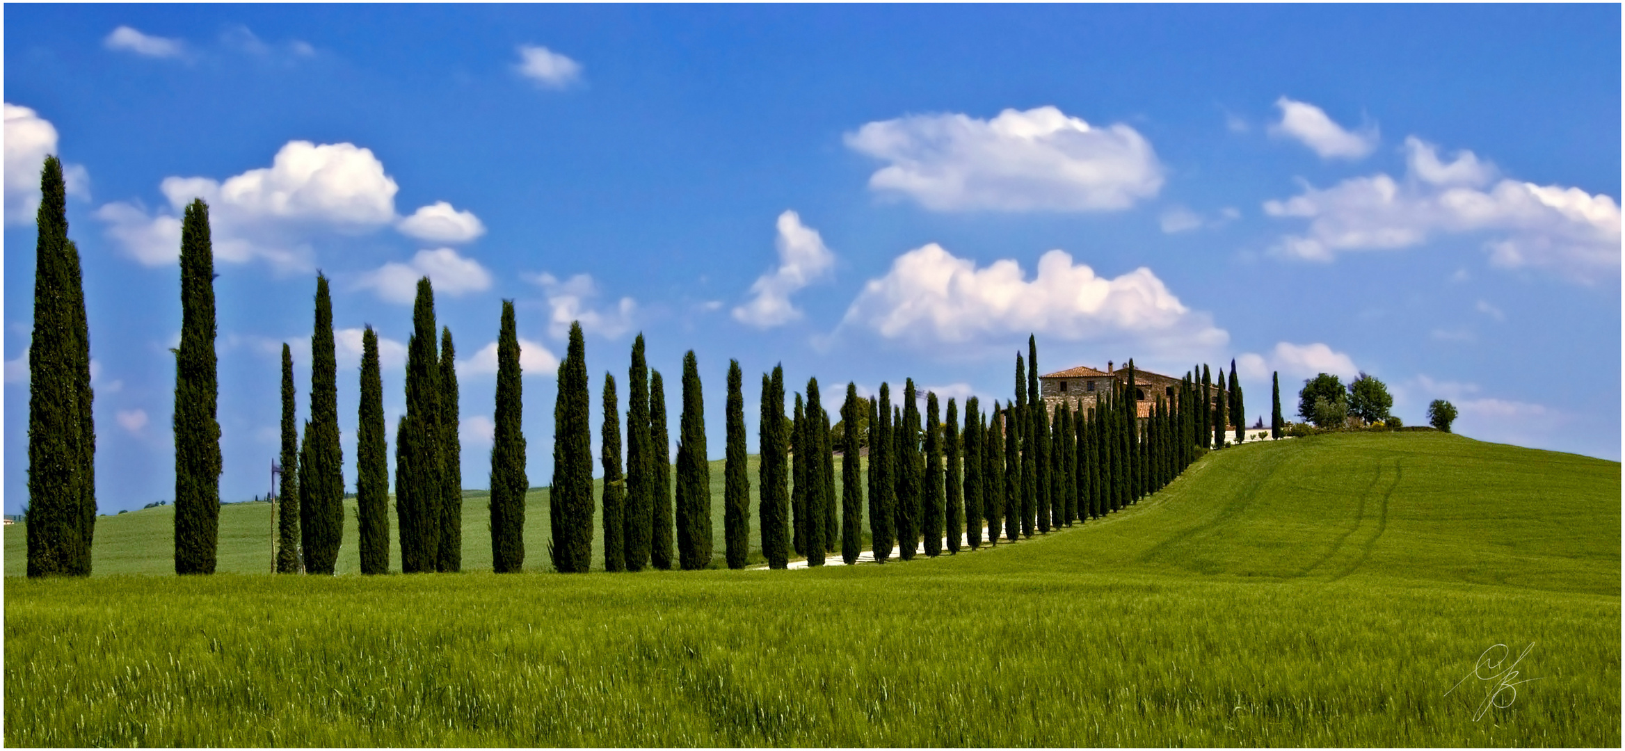
[[(359, 330), (403, 410), (410, 284), (457, 340), (486, 486), (515, 299), (533, 484), (556, 356), (630, 340), (788, 382), (1012, 393), (1136, 358), (1289, 411), (1358, 371), (1424, 423), (1620, 458), (1620, 10), (47, 7), (5, 11), (5, 507), (26, 499), (37, 169), (70, 171), (104, 512), (172, 497), (177, 205), (216, 239), (226, 501), (263, 494), (315, 271), (354, 480)], [(626, 387), (621, 387), (622, 393)], [(838, 393), (838, 392), (835, 392)], [(624, 405), (622, 405), (624, 410)], [(748, 408), (751, 434), (756, 410)], [(754, 450), (754, 437), (752, 437)], [(392, 452), (393, 454), (393, 452)]]

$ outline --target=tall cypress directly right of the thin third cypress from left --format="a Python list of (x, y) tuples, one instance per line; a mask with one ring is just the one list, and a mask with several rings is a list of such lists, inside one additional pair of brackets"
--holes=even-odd
[[(431, 336), (434, 330), (431, 328)], [(431, 348), (434, 346), (431, 340)], [(434, 361), (431, 361), (434, 367)], [(344, 454), (338, 445), (338, 359), (333, 354), (333, 299), (327, 276), (315, 276), (315, 330), (310, 335), (310, 452), (299, 460), (299, 530), (307, 574), (333, 574), (344, 536)], [(216, 504), (216, 512), (219, 506)]]

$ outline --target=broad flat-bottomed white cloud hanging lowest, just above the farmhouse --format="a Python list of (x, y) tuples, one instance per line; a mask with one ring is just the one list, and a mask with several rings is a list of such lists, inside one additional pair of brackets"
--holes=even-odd
[(1211, 348), (1228, 340), (1144, 267), (1108, 280), (1050, 250), (1029, 281), (1014, 260), (977, 268), (934, 242), (897, 257), (886, 276), (864, 284), (842, 325), (916, 343), (1029, 332), (1068, 341), (1133, 336), (1149, 346)]

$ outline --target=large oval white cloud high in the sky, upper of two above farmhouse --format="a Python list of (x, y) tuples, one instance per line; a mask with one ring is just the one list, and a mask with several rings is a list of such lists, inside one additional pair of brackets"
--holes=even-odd
[(869, 189), (936, 211), (1107, 211), (1162, 189), (1157, 154), (1134, 128), (1097, 128), (1056, 107), (1006, 109), (991, 120), (908, 115), (866, 124), (845, 141), (890, 163), (869, 176)]

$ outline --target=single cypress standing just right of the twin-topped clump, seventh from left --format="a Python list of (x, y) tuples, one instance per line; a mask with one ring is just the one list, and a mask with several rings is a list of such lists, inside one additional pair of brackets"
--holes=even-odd
[(491, 447), (491, 562), (497, 574), (525, 569), (525, 491), (530, 489), (530, 476), (525, 475), (522, 376), (514, 301), (502, 301), (496, 437)]

